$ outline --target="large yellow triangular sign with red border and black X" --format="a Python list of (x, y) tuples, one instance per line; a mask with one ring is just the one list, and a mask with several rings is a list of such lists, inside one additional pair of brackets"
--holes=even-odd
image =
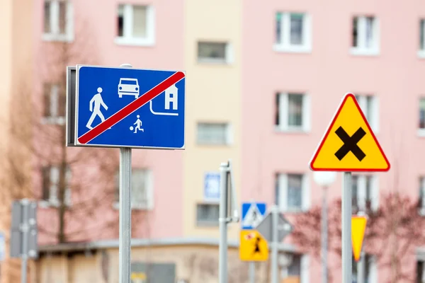
[(312, 160), (312, 171), (388, 171), (382, 151), (355, 96), (347, 93)]

